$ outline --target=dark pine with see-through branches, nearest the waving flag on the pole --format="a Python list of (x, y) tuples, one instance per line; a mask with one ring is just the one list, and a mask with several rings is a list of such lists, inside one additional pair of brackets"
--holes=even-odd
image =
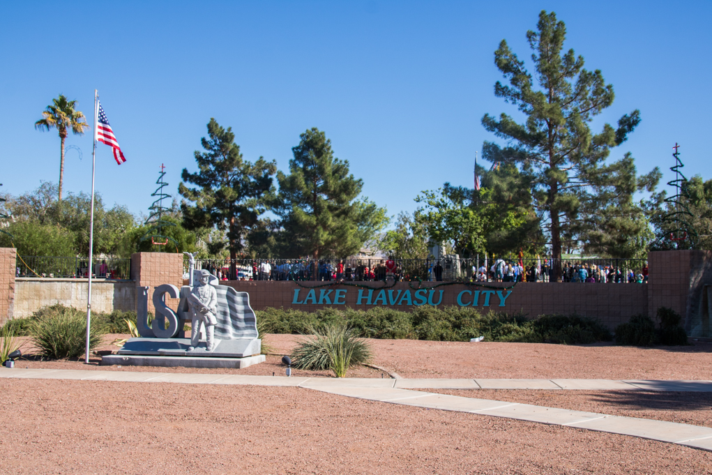
[(235, 276), (235, 259), (244, 249), (246, 235), (258, 226), (259, 216), (266, 209), (266, 199), (274, 192), (272, 177), (277, 169), (276, 162), (267, 162), (263, 157), (254, 163), (243, 160), (234, 140), (231, 127), (224, 129), (211, 118), (208, 138), (201, 139), (205, 152), (195, 152), (198, 172), (183, 169), (182, 173), (184, 182), (197, 187), (189, 188), (181, 182), (178, 188), (183, 197), (194, 203), (181, 204), (187, 229), (216, 226), (226, 231), (232, 276)]

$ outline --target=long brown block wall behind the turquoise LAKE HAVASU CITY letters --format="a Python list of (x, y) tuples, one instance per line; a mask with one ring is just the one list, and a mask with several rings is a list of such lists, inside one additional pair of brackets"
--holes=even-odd
[[(319, 308), (328, 307), (328, 305), (314, 305), (312, 303), (295, 305), (293, 297), (295, 289), (300, 289), (299, 300), (303, 301), (308, 289), (299, 287), (296, 283), (290, 281), (228, 281), (224, 284), (231, 286), (236, 291), (248, 292), (250, 294), (250, 306), (254, 310), (263, 310), (266, 307), (283, 307), (294, 308), (295, 310), (312, 311)], [(378, 288), (382, 283), (365, 283), (367, 286)], [(428, 288), (428, 285), (434, 283), (423, 283), (423, 288)], [(311, 285), (309, 282), (303, 283), (304, 286)], [(508, 283), (494, 284), (494, 286), (510, 286)], [(414, 283), (414, 286), (417, 286)], [(357, 296), (359, 288), (354, 286), (333, 286), (329, 288), (320, 288), (316, 290), (316, 296), (319, 297), (320, 290), (325, 289), (347, 289), (345, 306), (367, 310), (374, 307), (366, 305), (362, 301), (361, 305), (357, 305)], [(398, 291), (411, 289), (411, 294), (414, 290), (409, 286), (408, 282), (399, 282), (389, 290), (394, 291), (393, 296), (398, 295)], [(434, 301), (439, 299), (439, 292), (444, 291), (442, 302), (439, 307), (456, 306), (457, 296), (464, 290), (487, 290), (485, 288), (468, 287), (463, 285), (441, 286), (436, 289)], [(377, 296), (378, 291), (375, 290), (373, 298)], [(402, 295), (402, 294), (401, 294)], [(504, 294), (506, 296), (506, 293)], [(334, 293), (330, 294), (333, 299)], [(471, 296), (465, 296), (464, 302), (472, 301)], [(518, 283), (512, 289), (511, 295), (506, 298), (506, 306), (500, 307), (499, 298), (492, 295), (490, 298), (490, 306), (483, 307), (483, 296), (479, 299), (478, 310), (483, 312), (487, 310), (503, 310), (508, 313), (523, 312), (530, 318), (545, 313), (578, 313), (580, 315), (598, 318), (613, 329), (619, 323), (629, 320), (632, 315), (637, 313), (648, 312), (648, 285), (639, 283)], [(329, 307), (338, 308), (340, 306), (330, 305)], [(388, 306), (397, 310), (409, 311), (411, 306)]]

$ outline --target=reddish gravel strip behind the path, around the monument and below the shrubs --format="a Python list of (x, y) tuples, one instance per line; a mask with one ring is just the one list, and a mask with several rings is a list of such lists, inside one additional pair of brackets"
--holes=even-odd
[[(107, 335), (98, 350), (118, 350), (110, 342), (127, 335)], [(244, 370), (200, 370), (189, 368), (122, 367), (123, 371), (231, 372), (243, 375), (283, 374), (282, 353), (290, 353), (299, 335), (265, 335), (264, 340), (278, 355), (266, 363)], [(636, 348), (611, 344), (546, 345), (542, 343), (459, 343), (422, 340), (368, 340), (372, 363), (407, 378), (583, 378), (604, 380), (712, 380), (712, 343), (690, 346)], [(29, 343), (26, 350), (32, 353)], [(117, 370), (80, 361), (47, 362), (21, 360), (21, 367)], [(293, 375), (329, 376), (330, 372)], [(381, 377), (382, 372), (367, 367), (350, 370), (350, 377)], [(387, 376), (387, 375), (386, 375)]]

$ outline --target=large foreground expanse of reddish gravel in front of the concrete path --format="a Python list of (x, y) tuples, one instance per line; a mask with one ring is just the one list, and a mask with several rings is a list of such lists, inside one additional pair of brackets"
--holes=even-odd
[[(0, 380), (6, 474), (711, 474), (712, 454), (300, 388)], [(9, 429), (9, 430), (7, 430)]]

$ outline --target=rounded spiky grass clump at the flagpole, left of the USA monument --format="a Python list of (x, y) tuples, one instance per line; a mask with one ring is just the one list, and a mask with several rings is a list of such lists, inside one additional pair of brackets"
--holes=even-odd
[[(40, 349), (42, 355), (56, 360), (83, 355), (86, 332), (85, 315), (73, 308), (56, 308), (53, 312), (44, 313), (41, 318), (35, 320), (31, 330), (32, 342)], [(103, 333), (105, 333), (103, 325), (91, 326), (90, 349), (101, 343)]]

